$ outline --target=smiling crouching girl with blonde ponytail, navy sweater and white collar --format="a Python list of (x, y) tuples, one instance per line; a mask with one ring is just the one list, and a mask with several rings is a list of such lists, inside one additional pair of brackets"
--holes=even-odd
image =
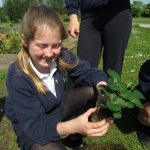
[[(103, 136), (110, 123), (88, 119), (106, 74), (62, 47), (63, 22), (44, 5), (32, 5), (21, 28), (22, 49), (8, 70), (5, 104), (21, 150), (66, 150), (59, 139), (67, 134)], [(68, 78), (83, 86), (65, 91)]]

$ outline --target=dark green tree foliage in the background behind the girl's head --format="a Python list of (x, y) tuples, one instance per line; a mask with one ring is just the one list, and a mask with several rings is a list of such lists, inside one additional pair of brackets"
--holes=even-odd
[(64, 0), (3, 0), (3, 9), (11, 22), (18, 22), (27, 9), (35, 2), (40, 2), (56, 10), (61, 15), (66, 13)]

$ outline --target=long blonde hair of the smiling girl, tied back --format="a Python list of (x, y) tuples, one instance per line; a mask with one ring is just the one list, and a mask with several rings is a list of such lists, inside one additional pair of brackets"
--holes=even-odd
[[(27, 10), (22, 19), (21, 32), (27, 45), (32, 42), (35, 38), (35, 32), (39, 29), (41, 30), (43, 24), (48, 25), (53, 30), (56, 30), (62, 36), (62, 40), (65, 38), (66, 31), (59, 14), (40, 3), (35, 3)], [(56, 60), (56, 63), (58, 70), (62, 74), (66, 75), (66, 69), (74, 68), (78, 64), (78, 61), (79, 60), (77, 58), (74, 64), (68, 64), (63, 58), (59, 57)], [(20, 71), (19, 67), (31, 78), (39, 93), (45, 94), (47, 92), (48, 89), (43, 85), (43, 82), (30, 66), (29, 51), (24, 45), (22, 45), (21, 51), (15, 59), (15, 68), (18, 73)]]

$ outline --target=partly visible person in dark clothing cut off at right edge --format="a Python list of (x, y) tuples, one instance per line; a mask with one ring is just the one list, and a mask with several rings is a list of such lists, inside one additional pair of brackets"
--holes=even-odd
[(136, 86), (146, 100), (142, 101), (143, 109), (135, 111), (137, 116), (137, 135), (139, 140), (150, 147), (150, 60), (145, 61), (139, 72), (139, 84)]

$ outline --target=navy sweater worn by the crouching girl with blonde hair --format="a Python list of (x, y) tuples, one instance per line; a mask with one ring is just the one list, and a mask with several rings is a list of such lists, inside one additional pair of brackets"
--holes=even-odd
[[(70, 64), (76, 60), (76, 55), (69, 50), (63, 50), (61, 56), (69, 56), (69, 59), (65, 57), (65, 61)], [(74, 83), (96, 86), (100, 81), (107, 82), (103, 71), (91, 68), (90, 64), (83, 60), (67, 72)], [(17, 136), (24, 132), (40, 145), (58, 140), (60, 135), (56, 125), (61, 121), (65, 108), (65, 101), (62, 101), (65, 95), (63, 75), (59, 71), (54, 74), (55, 97), (50, 91), (45, 95), (39, 94), (29, 76), (21, 70), (19, 73), (16, 72), (14, 63), (11, 64), (7, 76), (8, 96), (5, 103), (5, 114), (11, 120)]]

